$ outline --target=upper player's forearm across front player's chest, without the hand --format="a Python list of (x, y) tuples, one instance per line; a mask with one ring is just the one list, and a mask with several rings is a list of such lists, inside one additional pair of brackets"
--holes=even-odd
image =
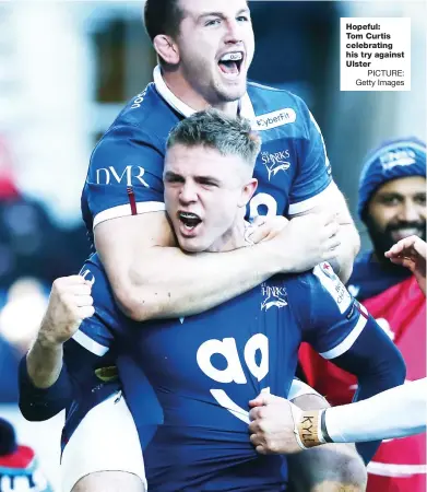
[(122, 311), (132, 319), (189, 316), (259, 285), (277, 272), (277, 262), (268, 243), (197, 255), (153, 247), (144, 251), (140, 263), (132, 262), (126, 284), (115, 291)]

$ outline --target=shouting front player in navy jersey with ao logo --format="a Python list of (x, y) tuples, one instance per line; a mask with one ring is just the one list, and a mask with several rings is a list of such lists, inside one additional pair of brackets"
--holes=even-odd
[[(244, 216), (257, 187), (252, 173), (258, 151), (259, 140), (248, 124), (214, 112), (193, 115), (173, 131), (165, 198), (185, 251), (216, 255), (248, 245)], [(265, 243), (273, 256), (275, 241)], [(209, 312), (147, 321), (143, 329), (115, 306), (97, 255), (86, 262), (86, 270), (96, 315), (81, 325), (73, 344), (80, 345), (80, 354), (82, 347), (103, 356), (117, 351), (151, 490), (285, 490), (282, 459), (264, 460), (249, 442), (247, 406), (263, 389), (287, 395), (301, 339), (360, 376), (360, 398), (404, 378), (399, 352), (354, 303), (329, 263), (316, 267), (313, 273), (273, 277)], [(62, 347), (69, 335), (59, 331), (56, 343)], [(376, 356), (378, 349), (381, 358)], [(74, 366), (72, 378), (83, 388), (88, 377), (78, 354), (74, 348), (67, 368)], [(139, 406), (129, 398), (127, 385), (135, 375), (127, 373), (124, 355), (149, 377), (162, 419), (155, 415), (149, 391), (141, 391)], [(56, 374), (61, 366), (62, 360)], [(144, 380), (129, 387), (145, 389)], [(90, 400), (95, 398), (92, 393)], [(92, 405), (87, 391), (82, 398), (74, 390), (73, 399), (64, 456)], [(371, 452), (366, 450), (366, 459)]]

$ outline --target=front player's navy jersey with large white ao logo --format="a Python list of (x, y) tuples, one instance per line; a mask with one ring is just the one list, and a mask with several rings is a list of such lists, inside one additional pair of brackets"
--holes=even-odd
[(118, 354), (150, 490), (286, 490), (282, 457), (260, 456), (249, 441), (248, 402), (262, 390), (287, 396), (303, 340), (334, 359), (363, 331), (367, 317), (329, 263), (143, 329), (115, 306), (97, 255), (81, 274), (93, 282), (96, 314), (73, 341), (99, 356)]

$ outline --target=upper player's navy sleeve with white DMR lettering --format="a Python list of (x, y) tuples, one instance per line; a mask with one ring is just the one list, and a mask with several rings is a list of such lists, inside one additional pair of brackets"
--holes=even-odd
[(112, 127), (95, 148), (82, 200), (100, 222), (165, 210), (162, 143), (133, 125)]

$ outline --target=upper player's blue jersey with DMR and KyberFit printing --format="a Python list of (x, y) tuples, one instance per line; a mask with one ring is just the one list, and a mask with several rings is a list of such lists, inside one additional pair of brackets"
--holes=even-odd
[[(93, 227), (103, 221), (165, 210), (166, 140), (192, 113), (156, 68), (154, 82), (123, 108), (92, 154), (82, 192), (92, 238)], [(322, 134), (305, 103), (287, 91), (249, 82), (240, 115), (262, 138), (254, 169), (259, 186), (247, 219), (293, 215), (315, 207), (332, 178)]]

